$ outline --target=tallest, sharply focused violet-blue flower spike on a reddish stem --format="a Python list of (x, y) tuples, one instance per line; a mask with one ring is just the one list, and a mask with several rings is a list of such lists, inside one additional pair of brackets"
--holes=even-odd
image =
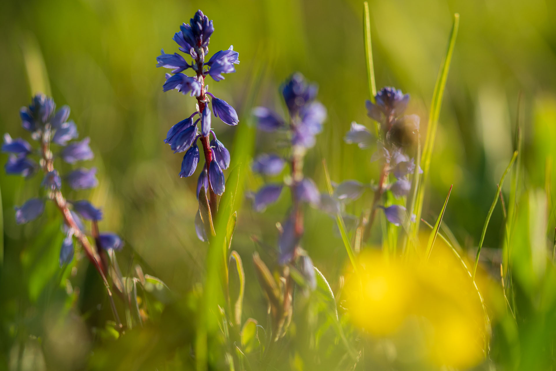
[[(191, 65), (178, 53), (162, 54), (156, 58), (157, 67), (171, 68), (172, 74), (166, 73), (166, 82), (163, 91), (177, 90), (184, 95), (189, 94), (197, 98), (197, 111), (185, 120), (172, 126), (167, 133), (165, 143), (177, 152), (185, 152), (181, 164), (180, 177), (193, 175), (200, 159), (197, 140), (201, 140), (205, 165), (198, 177), (197, 196), (204, 187), (210, 195), (210, 208), (216, 212), (216, 195), (221, 195), (225, 189), (225, 179), (222, 170), (230, 166), (230, 152), (220, 142), (211, 130), (211, 102), (212, 113), (220, 117), (227, 125), (237, 125), (239, 119), (234, 107), (226, 101), (215, 97), (207, 91), (205, 77), (210, 76), (214, 81), (224, 80), (223, 73), (235, 72), (234, 65), (238, 64), (239, 53), (230, 46), (229, 50), (216, 52), (209, 61), (205, 62), (209, 53), (210, 37), (214, 32), (212, 21), (201, 11), (197, 11), (189, 24), (183, 23), (180, 31), (176, 32), (173, 40), (178, 44), (179, 50), (192, 58)], [(183, 71), (191, 68), (195, 76), (187, 76)], [(210, 98), (209, 98), (210, 97)], [(194, 121), (195, 116), (199, 115)], [(210, 136), (212, 134), (212, 140)], [(200, 236), (201, 238), (201, 236)]]

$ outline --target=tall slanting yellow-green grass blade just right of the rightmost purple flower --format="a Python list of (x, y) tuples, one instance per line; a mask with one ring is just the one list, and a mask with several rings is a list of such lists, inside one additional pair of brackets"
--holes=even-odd
[[(425, 181), (429, 174), (430, 160), (433, 155), (434, 139), (436, 137), (436, 129), (438, 128), (438, 117), (440, 115), (440, 107), (442, 105), (442, 97), (444, 96), (444, 89), (446, 88), (446, 80), (448, 80), (448, 71), (450, 70), (451, 57), (454, 52), (456, 36), (458, 36), (459, 27), (459, 14), (454, 14), (454, 23), (451, 29), (448, 49), (442, 63), (440, 63), (440, 70), (436, 83), (434, 85), (433, 100), (430, 104), (429, 121), (426, 128), (425, 144), (423, 146), (423, 154), (421, 155), (421, 168), (423, 169), (423, 176), (419, 181), (418, 191), (416, 192), (415, 203), (415, 224), (413, 229), (413, 236), (415, 237), (419, 231), (419, 221), (421, 219), (421, 212), (423, 211), (423, 200), (425, 197)], [(413, 210), (412, 210), (413, 211)]]

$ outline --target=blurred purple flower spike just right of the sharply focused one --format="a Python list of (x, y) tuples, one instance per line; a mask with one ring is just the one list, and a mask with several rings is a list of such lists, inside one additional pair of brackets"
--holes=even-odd
[(254, 195), (254, 209), (265, 208), (275, 202), (284, 186), (289, 187), (292, 206), (281, 224), (279, 238), (280, 265), (294, 263), (300, 257), (301, 273), (306, 276), (310, 286), (314, 288), (316, 281), (312, 262), (300, 246), (303, 234), (303, 206), (310, 204), (321, 206), (321, 194), (315, 182), (304, 176), (302, 167), (307, 149), (315, 145), (315, 136), (322, 131), (322, 123), (326, 119), (326, 108), (315, 100), (317, 87), (309, 84), (301, 73), (295, 73), (284, 85), (282, 96), (289, 111), (290, 120), (282, 119), (276, 112), (266, 107), (254, 108), (260, 130), (266, 132), (284, 131), (290, 139), (286, 156), (277, 154), (261, 154), (252, 164), (252, 170), (264, 176), (281, 174), (284, 166), (290, 165), (290, 175), (281, 182), (271, 182), (263, 186)]

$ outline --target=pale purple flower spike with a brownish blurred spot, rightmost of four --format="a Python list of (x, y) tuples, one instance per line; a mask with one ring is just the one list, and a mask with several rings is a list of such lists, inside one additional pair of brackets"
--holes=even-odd
[[(400, 198), (408, 195), (411, 189), (410, 174), (415, 172), (415, 161), (408, 152), (414, 143), (415, 134), (419, 131), (419, 116), (404, 115), (409, 102), (409, 95), (403, 94), (393, 87), (382, 88), (375, 96), (375, 102), (366, 101), (367, 114), (379, 124), (379, 137), (363, 125), (351, 123), (344, 141), (348, 144), (357, 144), (361, 149), (368, 148), (376, 141), (376, 152), (371, 156), (371, 161), (381, 161), (381, 174), (378, 187), (375, 189), (373, 209), (383, 209), (386, 219), (394, 225), (403, 224), (406, 209), (402, 205), (385, 207), (378, 205), (381, 196), (389, 190), (394, 197)], [(421, 171), (419, 169), (419, 171)], [(389, 174), (394, 176), (394, 181), (389, 183)], [(349, 180), (336, 187), (335, 196), (338, 200), (355, 200), (367, 187), (358, 181)], [(371, 217), (372, 222), (372, 217)]]

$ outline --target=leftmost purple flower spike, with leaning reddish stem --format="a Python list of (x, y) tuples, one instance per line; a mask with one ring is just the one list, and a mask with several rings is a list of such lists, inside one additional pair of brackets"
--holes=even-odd
[[(92, 159), (93, 152), (89, 147), (89, 138), (72, 141), (78, 137), (78, 133), (75, 122), (68, 121), (69, 107), (63, 106), (56, 111), (52, 98), (42, 94), (34, 96), (31, 105), (22, 107), (19, 114), (23, 128), (31, 132), (33, 140), (38, 142), (37, 148), (34, 149), (23, 138), (13, 139), (9, 134), (4, 134), (2, 152), (9, 154), (4, 169), (7, 174), (22, 175), (27, 178), (42, 170), (44, 178), (41, 186), (46, 190), (46, 196), (32, 198), (21, 207), (16, 207), (17, 223), (24, 224), (37, 219), (44, 211), (44, 201), (51, 200), (64, 218), (63, 229), (66, 238), (60, 251), (60, 265), (67, 264), (73, 259), (74, 237), (83, 245), (88, 257), (98, 263), (98, 251), (93, 250), (88, 243), (82, 219), (96, 223), (102, 219), (102, 211), (87, 200), (70, 201), (62, 195), (63, 184), (73, 190), (96, 187), (98, 185), (96, 169), (80, 167), (61, 176), (54, 168), (56, 159), (61, 159), (68, 164)], [(55, 146), (55, 152), (51, 145)], [(34, 158), (38, 158), (38, 162)], [(123, 246), (120, 237), (113, 233), (98, 234), (95, 239), (97, 248), (103, 250), (117, 250)]]

